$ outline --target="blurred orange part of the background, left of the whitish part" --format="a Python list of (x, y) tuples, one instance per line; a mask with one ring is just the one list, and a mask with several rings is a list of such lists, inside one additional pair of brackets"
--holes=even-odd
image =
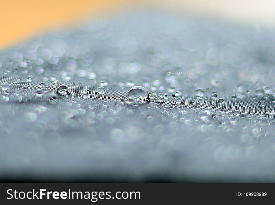
[(128, 0), (0, 0), (0, 48), (37, 32), (119, 9)]

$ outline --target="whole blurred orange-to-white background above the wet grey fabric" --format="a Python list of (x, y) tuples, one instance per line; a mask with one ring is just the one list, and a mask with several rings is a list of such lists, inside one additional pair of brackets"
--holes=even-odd
[[(72, 26), (87, 17), (151, 8), (214, 17), (245, 24), (275, 24), (272, 0), (12, 0), (0, 1), (0, 48), (28, 39), (37, 32)], [(90, 18), (89, 18), (90, 19)]]

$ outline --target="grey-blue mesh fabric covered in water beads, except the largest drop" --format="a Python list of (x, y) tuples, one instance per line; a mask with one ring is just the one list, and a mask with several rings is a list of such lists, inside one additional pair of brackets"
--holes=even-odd
[(274, 182), (274, 33), (147, 11), (2, 50), (1, 179)]

